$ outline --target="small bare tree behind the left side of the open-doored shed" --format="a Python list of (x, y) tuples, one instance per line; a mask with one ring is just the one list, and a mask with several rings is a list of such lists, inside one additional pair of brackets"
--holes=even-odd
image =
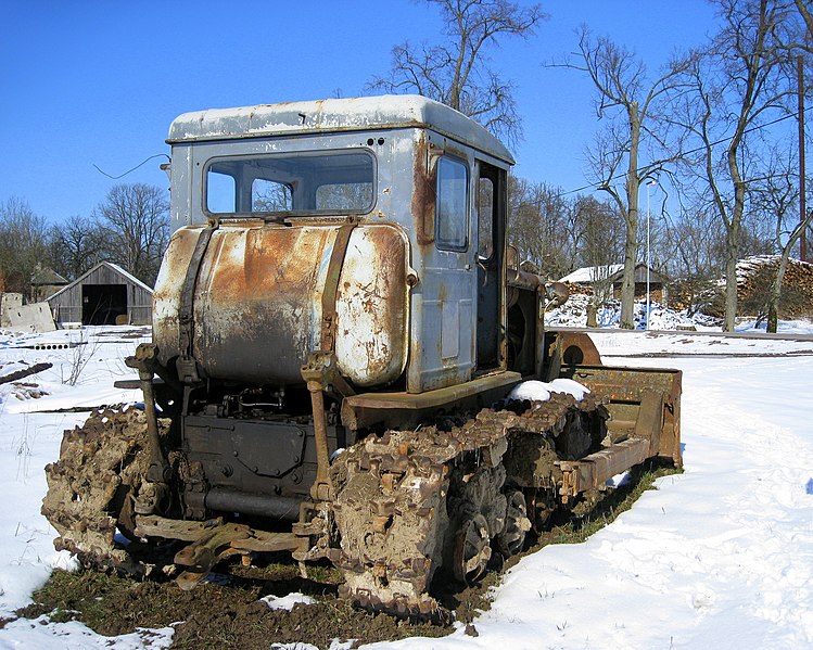
[(75, 280), (102, 262), (106, 233), (99, 222), (75, 215), (51, 228), (48, 247), (53, 269)]

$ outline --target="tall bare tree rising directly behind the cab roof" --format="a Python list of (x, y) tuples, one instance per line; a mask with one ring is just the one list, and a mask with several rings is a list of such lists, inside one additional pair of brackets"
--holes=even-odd
[(487, 52), (506, 36), (530, 38), (547, 17), (538, 4), (508, 0), (424, 0), (437, 5), (446, 40), (393, 48), (390, 74), (369, 90), (417, 92), (465, 113), (513, 144), (522, 135), (510, 80), (488, 65)]

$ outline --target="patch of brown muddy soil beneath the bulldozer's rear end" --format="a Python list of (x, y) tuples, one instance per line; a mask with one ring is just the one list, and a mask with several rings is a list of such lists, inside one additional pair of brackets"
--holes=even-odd
[[(127, 634), (137, 626), (173, 625), (176, 632), (172, 647), (195, 650), (267, 650), (271, 642), (296, 641), (329, 648), (335, 638), (366, 643), (452, 632), (448, 625), (399, 621), (353, 608), (336, 597), (332, 581), (338, 574), (331, 570), (317, 568), (319, 581), (312, 581), (298, 577), (297, 566), (290, 563), (230, 569), (233, 573), (229, 576), (215, 575), (192, 591), (181, 591), (170, 582), (55, 571), (34, 595), (35, 603), (17, 614), (28, 619), (48, 614), (54, 622), (81, 621), (105, 636)], [(291, 592), (309, 596), (315, 603), (297, 603), (285, 611), (272, 610), (261, 601), (265, 596)]]

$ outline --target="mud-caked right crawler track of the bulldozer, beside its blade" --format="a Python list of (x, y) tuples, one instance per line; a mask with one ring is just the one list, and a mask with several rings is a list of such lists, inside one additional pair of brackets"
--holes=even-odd
[(606, 418), (592, 396), (554, 394), (520, 412), (484, 409), (449, 431), (390, 431), (355, 445), (332, 472), (341, 548), (331, 560), (345, 575), (342, 596), (432, 613), (439, 570), (475, 579), (492, 547), (521, 550), (524, 533), (550, 511), (556, 460), (595, 450)]

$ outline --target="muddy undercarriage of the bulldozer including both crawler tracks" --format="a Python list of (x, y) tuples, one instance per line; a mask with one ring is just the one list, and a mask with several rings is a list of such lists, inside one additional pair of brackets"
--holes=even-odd
[[(552, 393), (354, 443), (329, 408), (329, 498), (312, 496), (318, 461), (305, 413), (255, 400), (233, 412), (207, 406), (175, 426), (158, 418), (172, 476), (162, 484), (150, 479), (145, 413), (105, 410), (65, 432), (42, 512), (56, 547), (88, 565), (150, 573), (166, 563), (192, 588), (221, 559), (290, 551), (329, 560), (344, 575), (341, 595), (363, 607), (430, 614), (437, 584), (478, 581), (557, 508), (658, 454), (663, 404), (647, 399), (633, 422), (619, 419), (628, 404), (607, 395)], [(167, 548), (172, 560), (143, 552)]]

